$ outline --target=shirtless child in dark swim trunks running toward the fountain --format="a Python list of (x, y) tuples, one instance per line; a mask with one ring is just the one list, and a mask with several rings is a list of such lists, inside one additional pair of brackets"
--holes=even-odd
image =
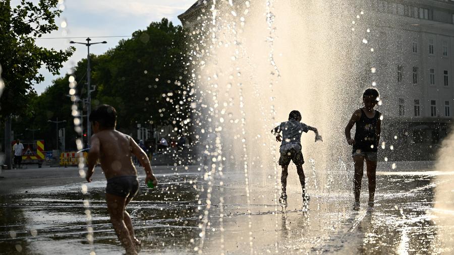
[(129, 136), (115, 130), (117, 111), (109, 105), (100, 105), (92, 111), (89, 120), (94, 135), (88, 153), (88, 170), (86, 179), (94, 172), (98, 158), (107, 179), (105, 197), (110, 221), (127, 254), (137, 254), (140, 241), (134, 234), (131, 217), (125, 211), (126, 206), (134, 198), (139, 189), (137, 170), (132, 163), (134, 154), (145, 168), (145, 183), (152, 181), (156, 186), (157, 179), (153, 175), (151, 165), (145, 152)]

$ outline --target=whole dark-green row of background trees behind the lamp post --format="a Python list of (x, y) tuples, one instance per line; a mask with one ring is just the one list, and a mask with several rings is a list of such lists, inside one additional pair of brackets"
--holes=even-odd
[[(104, 54), (91, 55), (91, 81), (96, 85), (92, 108), (98, 104), (114, 106), (118, 111), (118, 129), (127, 134), (135, 133), (137, 123), (147, 127), (150, 123), (178, 126), (189, 108), (189, 92), (185, 91), (189, 87), (183, 82), (186, 80), (184, 52), (183, 28), (162, 19), (145, 30), (134, 32), (132, 38), (120, 41)], [(87, 59), (82, 59), (73, 73), (76, 95), (81, 99), (87, 97), (86, 74)], [(49, 145), (49, 140), (56, 140), (56, 127), (47, 120), (58, 117), (67, 120), (60, 126), (67, 127), (67, 148), (75, 149), (73, 103), (65, 96), (69, 90), (68, 78), (67, 75), (56, 79), (41, 95), (32, 96), (30, 112), (33, 114), (21, 116), (13, 123), (16, 134), (23, 133), (27, 140), (31, 139), (31, 133), (25, 128), (41, 128), (35, 138), (44, 139)], [(86, 114), (85, 109), (83, 114)], [(83, 122), (85, 132), (86, 117)], [(56, 145), (56, 142), (51, 143)]]

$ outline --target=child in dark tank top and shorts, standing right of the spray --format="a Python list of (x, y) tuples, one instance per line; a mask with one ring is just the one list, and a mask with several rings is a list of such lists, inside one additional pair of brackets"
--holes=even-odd
[[(377, 147), (381, 133), (382, 114), (374, 110), (379, 101), (378, 90), (366, 89), (363, 93), (364, 107), (356, 110), (345, 127), (345, 137), (349, 145), (353, 145), (353, 161), (355, 162), (355, 204), (354, 210), (360, 208), (361, 179), (363, 178), (364, 160), (366, 160), (367, 178), (369, 179), (369, 208), (374, 206), (375, 170), (377, 169)], [(356, 124), (355, 139), (350, 131)]]

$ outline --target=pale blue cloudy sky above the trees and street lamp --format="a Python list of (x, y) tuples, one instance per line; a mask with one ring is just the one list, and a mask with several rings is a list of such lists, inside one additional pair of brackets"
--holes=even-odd
[[(14, 2), (19, 2), (18, 0)], [(13, 5), (15, 3), (12, 3)], [(33, 1), (36, 2), (36, 1)], [(64, 63), (61, 75), (68, 73), (78, 61), (87, 56), (87, 47), (82, 44), (70, 44), (71, 40), (85, 42), (86, 37), (95, 36), (130, 36), (134, 31), (145, 29), (151, 22), (167, 18), (176, 25), (181, 25), (178, 15), (184, 13), (196, 0), (60, 0), (64, 11), (56, 24), (61, 27), (66, 21), (67, 27), (60, 28), (43, 38), (68, 37), (62, 39), (37, 39), (36, 44), (46, 48), (67, 49), (75, 46), (73, 56)], [(67, 34), (65, 35), (65, 30)], [(82, 38), (69, 38), (82, 37)], [(90, 47), (90, 53), (101, 54), (115, 47), (119, 40), (129, 37), (92, 38), (91, 42), (107, 41), (107, 44), (96, 44)], [(38, 94), (60, 76), (52, 76), (42, 68), (45, 81), (35, 85)]]

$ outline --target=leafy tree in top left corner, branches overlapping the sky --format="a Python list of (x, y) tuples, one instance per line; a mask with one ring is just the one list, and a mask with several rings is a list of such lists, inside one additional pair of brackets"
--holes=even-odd
[(15, 8), (11, 0), (0, 2), (0, 65), (5, 89), (0, 98), (0, 116), (19, 115), (27, 112), (33, 85), (44, 80), (38, 70), (45, 66), (58, 75), (74, 51), (46, 49), (35, 45), (35, 39), (58, 29), (55, 18), (61, 11), (58, 0), (39, 0), (36, 5), (22, 0)]

